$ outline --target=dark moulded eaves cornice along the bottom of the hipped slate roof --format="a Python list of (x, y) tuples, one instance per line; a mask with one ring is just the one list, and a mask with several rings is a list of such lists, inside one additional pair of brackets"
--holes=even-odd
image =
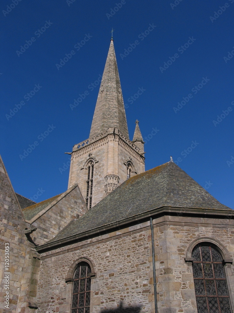
[[(115, 223), (111, 223), (111, 224), (107, 224), (104, 226), (101, 226), (99, 228), (95, 228), (95, 229), (91, 229), (87, 232), (84, 233), (80, 233), (80, 234), (76, 234), (76, 235), (72, 235), (69, 236), (67, 238), (64, 239), (60, 239), (51, 243), (46, 243), (43, 244), (41, 246), (38, 246), (37, 248), (35, 248), (39, 253), (45, 252), (47, 250), (52, 250), (52, 249), (56, 249), (58, 247), (61, 247), (63, 245), (66, 244), (71, 244), (74, 243), (75, 241), (81, 241), (82, 239), (87, 239), (87, 237), (89, 236), (95, 236), (96, 234), (99, 236), (100, 233), (102, 232), (106, 232), (106, 231), (111, 231), (111, 229), (114, 228), (119, 228), (119, 227), (124, 227), (124, 225), (129, 224), (129, 223), (134, 223), (134, 222), (138, 222), (140, 223), (141, 220), (145, 220), (146, 218), (150, 218), (153, 217), (157, 218), (159, 216), (162, 215), (177, 215), (178, 217), (188, 217), (188, 216), (193, 216), (193, 217), (198, 217), (198, 218), (220, 218), (221, 219), (228, 219), (228, 220), (232, 220), (234, 219), (234, 210), (218, 210), (218, 209), (202, 209), (202, 208), (175, 208), (175, 207), (161, 207), (161, 208), (155, 208), (154, 210), (151, 210), (149, 212), (145, 212), (142, 214), (138, 214), (135, 215), (133, 217), (130, 218), (126, 218), (124, 220), (121, 220), (119, 222), (115, 222)], [(168, 225), (177, 225), (177, 224), (181, 224), (181, 222), (173, 222), (173, 221), (169, 221)], [(186, 223), (182, 223), (182, 224), (186, 224)], [(197, 223), (188, 223), (188, 225), (197, 225)], [(206, 223), (207, 224), (207, 223)], [(214, 224), (207, 224), (206, 226), (214, 226)], [(232, 225), (230, 225), (230, 223), (220, 223), (221, 226), (219, 227), (223, 227), (223, 228), (227, 228), (227, 227), (233, 227), (234, 225), (232, 223)], [(204, 227), (205, 225), (202, 223), (202, 226)]]

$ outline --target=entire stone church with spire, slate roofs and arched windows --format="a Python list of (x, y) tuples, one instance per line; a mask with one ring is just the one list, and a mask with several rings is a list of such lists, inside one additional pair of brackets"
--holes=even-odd
[(90, 136), (69, 154), (68, 189), (40, 203), (1, 159), (1, 313), (234, 312), (234, 211), (172, 157), (145, 172), (113, 38)]

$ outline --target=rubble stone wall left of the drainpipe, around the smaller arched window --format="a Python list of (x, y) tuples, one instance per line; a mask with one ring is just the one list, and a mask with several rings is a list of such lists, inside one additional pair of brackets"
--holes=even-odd
[[(142, 228), (144, 227), (144, 229)], [(86, 257), (94, 264), (91, 282), (91, 311), (141, 306), (152, 312), (153, 280), (149, 223), (125, 228), (42, 254), (39, 275), (38, 313), (70, 312), (72, 282), (65, 278), (71, 264)], [(48, 255), (48, 257), (46, 257)], [(78, 262), (78, 261), (77, 261)]]

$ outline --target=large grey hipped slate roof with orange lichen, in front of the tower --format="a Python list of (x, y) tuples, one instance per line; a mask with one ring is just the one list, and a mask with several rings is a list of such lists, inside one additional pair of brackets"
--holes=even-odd
[(232, 210), (218, 202), (173, 161), (127, 179), (48, 243), (160, 207)]

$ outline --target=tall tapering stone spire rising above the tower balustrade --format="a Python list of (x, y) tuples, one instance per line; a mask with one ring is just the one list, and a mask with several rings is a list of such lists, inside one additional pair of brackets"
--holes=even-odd
[(90, 138), (109, 127), (119, 128), (120, 133), (129, 139), (113, 38), (110, 40), (110, 49), (94, 111)]

